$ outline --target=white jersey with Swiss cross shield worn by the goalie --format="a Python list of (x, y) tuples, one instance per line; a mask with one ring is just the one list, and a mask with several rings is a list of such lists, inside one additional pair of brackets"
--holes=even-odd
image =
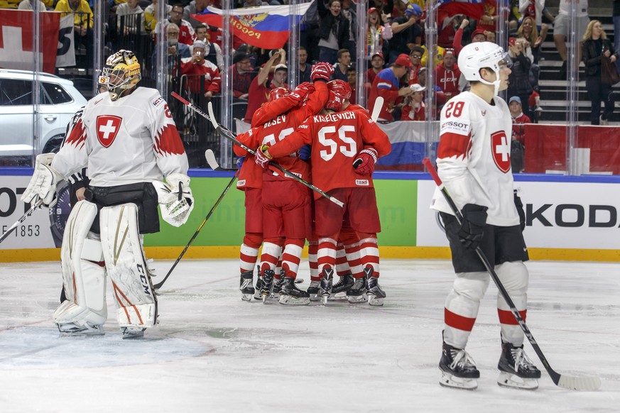
[(52, 167), (64, 177), (87, 167), (90, 185), (110, 187), (187, 175), (189, 165), (168, 104), (138, 87), (116, 101), (107, 92), (90, 99)]

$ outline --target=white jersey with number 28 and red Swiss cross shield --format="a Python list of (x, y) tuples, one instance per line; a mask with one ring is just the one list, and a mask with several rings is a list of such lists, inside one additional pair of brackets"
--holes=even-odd
[[(471, 92), (450, 99), (441, 111), (437, 173), (459, 209), (487, 206), (488, 224), (519, 224), (510, 165), (512, 121), (506, 102), (494, 104)], [(431, 208), (452, 214), (439, 189)]]

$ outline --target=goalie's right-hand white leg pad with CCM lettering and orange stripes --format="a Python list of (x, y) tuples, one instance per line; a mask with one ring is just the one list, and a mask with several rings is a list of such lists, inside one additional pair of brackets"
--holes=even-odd
[(99, 226), (121, 330), (154, 326), (157, 298), (138, 233), (138, 207), (136, 204), (106, 206), (100, 212)]

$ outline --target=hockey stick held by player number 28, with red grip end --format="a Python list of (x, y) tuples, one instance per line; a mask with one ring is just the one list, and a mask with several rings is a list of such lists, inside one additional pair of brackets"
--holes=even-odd
[[(447, 188), (443, 185), (443, 182), (441, 182), (441, 179), (439, 175), (437, 175), (437, 171), (433, 167), (433, 164), (430, 163), (430, 160), (428, 158), (424, 158), (422, 163), (428, 170), (428, 173), (430, 173), (430, 176), (433, 177), (435, 184), (437, 184), (437, 187), (442, 192), (443, 197), (445, 198), (447, 203), (450, 205), (450, 209), (452, 209), (452, 212), (455, 213), (458, 223), (461, 224), (463, 221), (463, 216), (461, 214), (461, 211), (459, 211), (454, 200), (452, 200), (452, 197), (450, 197), (450, 193), (447, 191)], [(569, 390), (597, 390), (599, 387), (601, 387), (600, 378), (573, 377), (573, 376), (567, 376), (567, 375), (560, 375), (560, 373), (557, 373), (555, 370), (553, 370), (553, 368), (551, 368), (551, 366), (549, 365), (549, 362), (547, 361), (547, 358), (545, 358), (545, 355), (543, 354), (543, 351), (540, 350), (538, 343), (536, 343), (534, 336), (532, 335), (530, 329), (528, 329), (526, 321), (523, 321), (521, 314), (519, 314), (514, 302), (508, 295), (506, 288), (504, 288), (504, 285), (501, 284), (501, 280), (499, 280), (497, 273), (493, 269), (493, 265), (489, 263), (489, 259), (486, 258), (486, 255), (484, 255), (484, 253), (482, 252), (479, 246), (476, 248), (476, 253), (478, 255), (478, 258), (480, 258), (480, 260), (484, 264), (484, 268), (486, 268), (486, 272), (489, 272), (489, 274), (491, 275), (491, 278), (493, 279), (493, 282), (495, 282), (495, 285), (497, 286), (497, 289), (499, 290), (501, 297), (504, 298), (504, 300), (506, 301), (506, 304), (508, 304), (508, 307), (510, 307), (511, 313), (513, 314), (514, 318), (518, 322), (519, 326), (521, 326), (523, 333), (525, 333), (526, 337), (530, 341), (530, 344), (534, 348), (534, 351), (536, 352), (536, 355), (538, 355), (538, 358), (540, 358), (540, 361), (543, 362), (543, 365), (545, 366), (547, 373), (549, 373), (549, 375), (551, 376), (551, 380), (553, 380), (555, 385), (564, 387), (565, 389), (569, 389)]]

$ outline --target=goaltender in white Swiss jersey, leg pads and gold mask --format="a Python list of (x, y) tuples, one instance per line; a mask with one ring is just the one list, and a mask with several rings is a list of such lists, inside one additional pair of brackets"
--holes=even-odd
[(156, 89), (138, 87), (140, 79), (134, 53), (108, 57), (99, 79), (108, 92), (88, 101), (58, 154), (37, 156), (21, 197), (52, 207), (56, 184), (88, 168), (86, 199), (73, 207), (60, 250), (66, 299), (54, 321), (62, 335), (104, 334), (106, 275), (123, 338), (155, 326), (141, 234), (159, 231), (158, 203), (173, 226), (185, 224), (193, 209), (187, 155), (168, 104)]

